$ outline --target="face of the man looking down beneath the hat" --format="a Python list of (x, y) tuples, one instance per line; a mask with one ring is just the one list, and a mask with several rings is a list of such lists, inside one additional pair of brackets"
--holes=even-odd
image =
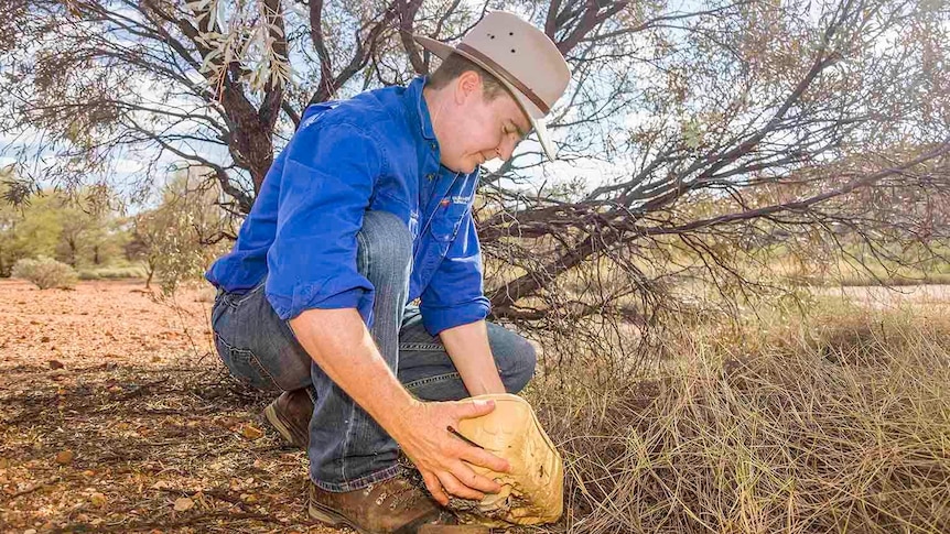
[(472, 173), (488, 160), (511, 157), (515, 145), (531, 130), (528, 117), (509, 94), (485, 100), (475, 73), (456, 79), (453, 96), (451, 119), (438, 131), (442, 164), (452, 171)]

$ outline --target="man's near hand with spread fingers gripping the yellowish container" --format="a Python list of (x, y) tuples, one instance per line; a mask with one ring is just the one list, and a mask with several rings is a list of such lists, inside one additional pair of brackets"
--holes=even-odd
[(422, 473), (429, 492), (441, 504), (449, 504), (447, 493), (478, 501), (485, 493), (501, 490), (497, 482), (477, 475), (465, 461), (498, 472), (510, 469), (508, 461), (465, 443), (449, 431), (457, 428), (461, 419), (478, 417), (493, 410), (494, 401), (417, 402), (404, 419), (395, 428), (388, 428)]

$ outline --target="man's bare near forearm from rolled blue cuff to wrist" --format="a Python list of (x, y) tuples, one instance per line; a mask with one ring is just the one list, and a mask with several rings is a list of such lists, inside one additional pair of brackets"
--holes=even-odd
[(380, 426), (390, 435), (401, 426), (417, 401), (386, 364), (356, 309), (307, 309), (290, 326), (323, 372)]

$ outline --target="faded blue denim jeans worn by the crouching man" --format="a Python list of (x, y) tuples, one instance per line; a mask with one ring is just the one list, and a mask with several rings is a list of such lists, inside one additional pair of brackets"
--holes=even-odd
[[(369, 329), (386, 363), (413, 395), (427, 401), (469, 396), (438, 337), (407, 305), (412, 237), (392, 214), (367, 211), (357, 233), (357, 265), (376, 288)], [(212, 310), (215, 346), (230, 373), (268, 391), (307, 388), (310, 477), (327, 491), (352, 491), (397, 473), (398, 445), (311, 360), (281, 320), (263, 281), (244, 294), (218, 291)], [(505, 389), (517, 393), (535, 373), (535, 349), (521, 336), (488, 323), (488, 342)], [(346, 355), (338, 355), (345, 358)]]

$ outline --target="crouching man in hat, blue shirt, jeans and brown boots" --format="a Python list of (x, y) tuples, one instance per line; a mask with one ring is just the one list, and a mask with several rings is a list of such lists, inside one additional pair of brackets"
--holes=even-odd
[[(449, 494), (498, 491), (468, 464), (507, 462), (452, 429), (517, 393), (535, 351), (485, 322), (472, 203), (478, 166), (511, 156), (570, 74), (519, 18), (488, 13), (408, 87), (310, 106), (234, 250), (212, 265), (217, 350), (310, 458), (310, 513), (360, 532), (414, 532)], [(418, 303), (418, 305), (415, 304)], [(461, 401), (461, 402), (460, 402)], [(409, 483), (399, 450), (431, 493)]]

